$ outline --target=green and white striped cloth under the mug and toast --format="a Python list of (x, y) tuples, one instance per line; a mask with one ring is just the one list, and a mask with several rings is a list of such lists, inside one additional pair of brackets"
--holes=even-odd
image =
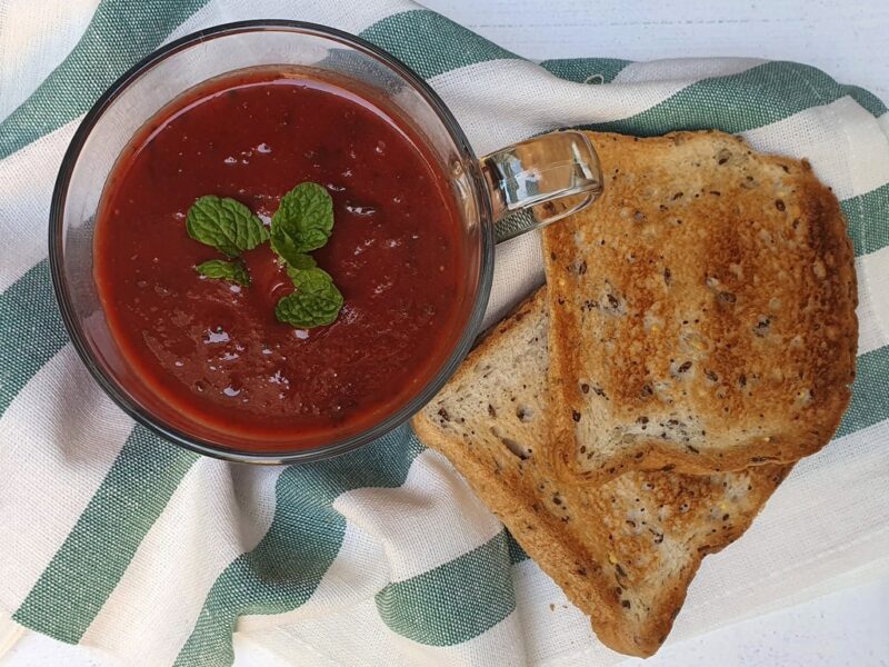
[[(860, 356), (837, 438), (708, 558), (671, 641), (889, 571), (889, 115), (761, 60), (522, 60), (407, 0), (0, 0), (0, 646), (22, 628), (109, 664), (570, 665), (621, 659), (408, 427), (333, 460), (244, 467), (133, 425), (62, 328), (47, 218), (62, 153), (119, 74), (228, 21), (316, 21), (390, 51), (479, 155), (553, 128), (719, 128), (807, 157), (855, 240)], [(592, 50), (595, 47), (591, 46)], [(542, 281), (498, 248), (488, 322)]]

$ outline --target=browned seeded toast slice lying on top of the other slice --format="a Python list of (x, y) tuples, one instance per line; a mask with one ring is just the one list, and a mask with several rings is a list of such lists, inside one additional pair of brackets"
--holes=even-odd
[(721, 132), (590, 137), (605, 193), (543, 235), (559, 475), (817, 451), (858, 338), (836, 197), (806, 161)]

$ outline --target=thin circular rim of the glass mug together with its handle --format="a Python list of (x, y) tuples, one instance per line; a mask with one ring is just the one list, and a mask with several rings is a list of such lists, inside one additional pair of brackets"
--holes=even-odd
[[(73, 296), (66, 277), (66, 202), (71, 178), (88, 138), (106, 111), (140, 77), (181, 51), (228, 36), (267, 31), (297, 32), (340, 43), (373, 58), (411, 86), (447, 129), (453, 148), (463, 158), (467, 176), (472, 181), (477, 195), (479, 232), (482, 243), (480, 275), (472, 308), (450, 355), (431, 378), (409, 400), (367, 430), (330, 444), (290, 451), (229, 448), (183, 432), (152, 415), (144, 406), (139, 405), (117, 380), (110, 377), (109, 372), (106, 372), (96, 358), (97, 355), (88, 342), (81, 319), (74, 308)], [(232, 68), (228, 71), (237, 69), (241, 68)], [(540, 165), (532, 161), (536, 157), (535, 153), (539, 153), (541, 149), (559, 153), (562, 159), (548, 162), (547, 169), (541, 170)], [(537, 158), (539, 159), (539, 156)], [(64, 327), (78, 356), (111, 400), (138, 424), (176, 445), (204, 456), (229, 461), (289, 464), (318, 460), (344, 454), (383, 436), (404, 424), (431, 400), (448, 378), (453, 375), (479, 332), (490, 297), (496, 242), (543, 227), (585, 208), (601, 192), (601, 182), (598, 158), (589, 140), (581, 132), (565, 131), (546, 135), (503, 148), (481, 159), (477, 158), (453, 115), (429, 84), (392, 54), (353, 34), (302, 21), (252, 20), (226, 23), (199, 30), (157, 49), (119, 77), (87, 112), (64, 153), (52, 193), (49, 216), (49, 262), (52, 285)], [(563, 206), (559, 208), (557, 203)], [(495, 240), (497, 222), (516, 211), (527, 211), (528, 215), (515, 216), (512, 222), (497, 228), (497, 240)]]

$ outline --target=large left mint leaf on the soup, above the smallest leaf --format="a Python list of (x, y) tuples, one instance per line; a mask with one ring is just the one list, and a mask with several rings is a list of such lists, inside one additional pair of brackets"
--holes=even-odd
[(269, 239), (262, 221), (240, 201), (207, 195), (188, 209), (188, 235), (229, 257), (238, 257)]

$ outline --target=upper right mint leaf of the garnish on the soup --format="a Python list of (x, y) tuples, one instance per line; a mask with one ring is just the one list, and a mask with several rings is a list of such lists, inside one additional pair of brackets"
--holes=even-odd
[(318, 183), (300, 183), (281, 198), (271, 219), (271, 247), (291, 266), (297, 255), (317, 250), (333, 231), (333, 200)]

